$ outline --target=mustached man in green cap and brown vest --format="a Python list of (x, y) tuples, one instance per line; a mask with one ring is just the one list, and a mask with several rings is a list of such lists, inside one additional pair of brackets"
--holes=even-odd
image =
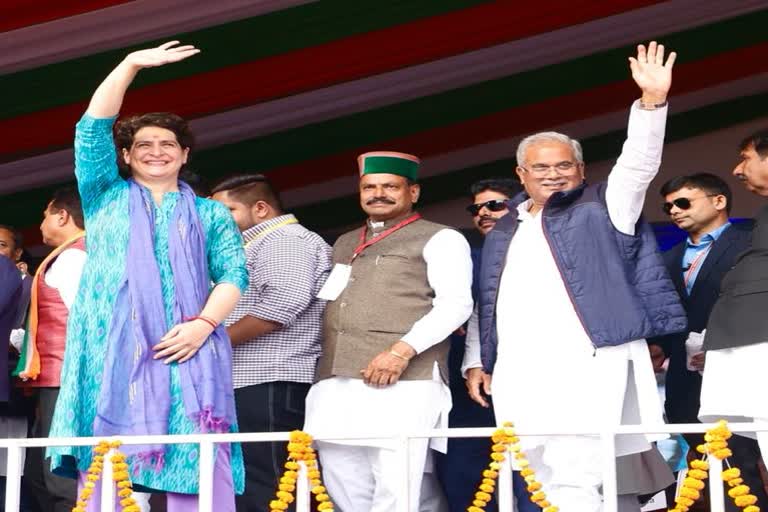
[(417, 157), (377, 151), (358, 163), (368, 220), (333, 247), (305, 429), (319, 438), (384, 438), (317, 443), (338, 510), (388, 512), (407, 499), (416, 512), (429, 448), (445, 451), (445, 440), (411, 441), (404, 496), (393, 438), (447, 427), (447, 339), (472, 312), (472, 260), (458, 231), (414, 212)]

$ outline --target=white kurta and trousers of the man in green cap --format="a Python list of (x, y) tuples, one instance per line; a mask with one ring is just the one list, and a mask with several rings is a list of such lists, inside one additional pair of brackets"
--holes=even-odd
[[(421, 353), (448, 338), (472, 310), (472, 259), (457, 231), (437, 232), (424, 246), (427, 278), (435, 292), (432, 310), (403, 336)], [(371, 290), (372, 294), (376, 290)], [(394, 344), (398, 340), (392, 340)], [(362, 368), (361, 368), (362, 370)], [(307, 395), (304, 429), (315, 437), (372, 436), (448, 427), (451, 393), (435, 365), (432, 380), (398, 381), (386, 388), (362, 379), (332, 377), (314, 384)], [(340, 512), (392, 512), (402, 473), (397, 443), (390, 440), (318, 442), (324, 483)], [(445, 452), (445, 439), (410, 443), (410, 510), (418, 512), (428, 448)]]

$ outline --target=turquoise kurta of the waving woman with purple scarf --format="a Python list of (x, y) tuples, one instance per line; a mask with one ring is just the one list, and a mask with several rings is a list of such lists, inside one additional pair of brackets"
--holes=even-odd
[[(94, 119), (87, 114), (77, 124), (75, 135), (75, 175), (83, 203), (88, 260), (80, 281), (80, 290), (72, 306), (67, 328), (67, 348), (61, 372), (61, 390), (51, 426), (51, 437), (93, 435), (93, 422), (102, 384), (104, 360), (112, 312), (125, 271), (128, 251), (128, 183), (118, 173), (112, 140), (114, 118)], [(163, 196), (155, 205), (155, 258), (160, 269), (166, 321), (172, 326), (174, 283), (168, 258), (168, 229), (178, 192)], [(206, 252), (211, 280), (231, 283), (244, 290), (248, 285), (245, 255), (240, 232), (229, 211), (220, 203), (196, 198), (200, 221), (205, 232)], [(159, 341), (159, 340), (158, 340)], [(158, 364), (162, 364), (158, 361)], [(182, 402), (179, 372), (171, 364), (171, 411), (169, 434), (191, 434), (195, 425), (187, 418)], [(231, 431), (237, 430), (233, 425)], [(52, 467), (71, 476), (74, 456), (80, 471), (86, 471), (93, 456), (90, 447), (53, 447)], [(198, 492), (197, 445), (168, 445), (165, 467), (156, 472), (143, 469), (132, 480), (152, 489), (178, 493)], [(243, 459), (239, 445), (232, 448), (232, 473), (235, 489), (241, 493)]]

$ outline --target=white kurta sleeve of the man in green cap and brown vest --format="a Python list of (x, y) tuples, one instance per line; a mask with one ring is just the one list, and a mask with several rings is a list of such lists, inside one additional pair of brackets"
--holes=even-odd
[(422, 254), (435, 298), (429, 313), (403, 336), (419, 354), (450, 336), (472, 314), (472, 257), (464, 236), (453, 229), (440, 230)]

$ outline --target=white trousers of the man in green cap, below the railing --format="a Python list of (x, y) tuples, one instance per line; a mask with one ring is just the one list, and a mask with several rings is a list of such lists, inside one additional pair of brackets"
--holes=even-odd
[[(409, 512), (419, 512), (421, 480), (429, 440), (410, 442)], [(339, 512), (395, 512), (401, 496), (402, 464), (396, 450), (317, 442), (323, 482)]]

